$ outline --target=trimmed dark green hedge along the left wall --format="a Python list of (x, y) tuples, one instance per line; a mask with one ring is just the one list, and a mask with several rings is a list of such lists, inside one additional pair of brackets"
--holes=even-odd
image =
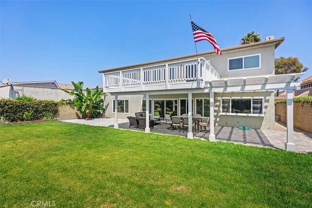
[(43, 113), (58, 113), (59, 102), (53, 100), (23, 101), (16, 99), (0, 99), (0, 116), (10, 122), (23, 121), (25, 112), (34, 111), (31, 120), (40, 120)]

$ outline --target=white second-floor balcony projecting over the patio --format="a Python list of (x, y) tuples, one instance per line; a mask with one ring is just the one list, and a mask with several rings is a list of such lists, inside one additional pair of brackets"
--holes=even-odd
[(137, 69), (103, 73), (104, 92), (204, 88), (205, 82), (220, 75), (201, 57)]

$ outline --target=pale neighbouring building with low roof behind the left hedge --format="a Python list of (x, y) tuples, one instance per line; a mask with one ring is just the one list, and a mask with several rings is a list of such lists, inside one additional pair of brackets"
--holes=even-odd
[(74, 86), (56, 81), (12, 82), (0, 86), (0, 98), (17, 98), (22, 95), (56, 101), (72, 98), (61, 89), (72, 90)]

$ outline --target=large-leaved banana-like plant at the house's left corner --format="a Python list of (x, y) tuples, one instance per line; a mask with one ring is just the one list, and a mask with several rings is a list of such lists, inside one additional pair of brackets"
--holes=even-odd
[(69, 95), (74, 95), (75, 98), (63, 101), (73, 103), (75, 108), (81, 113), (82, 118), (96, 118), (103, 114), (104, 100), (102, 97), (106, 96), (106, 94), (103, 93), (103, 90), (99, 90), (97, 86), (95, 90), (86, 88), (84, 92), (83, 82), (72, 83), (75, 88), (74, 90), (67, 91), (62, 89), (62, 91)]

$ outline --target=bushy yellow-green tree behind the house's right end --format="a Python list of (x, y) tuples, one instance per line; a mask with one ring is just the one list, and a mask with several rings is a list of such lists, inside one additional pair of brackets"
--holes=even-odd
[[(293, 74), (293, 73), (301, 73), (306, 72), (309, 68), (304, 67), (302, 63), (300, 63), (298, 57), (279, 57), (275, 58), (274, 71), (275, 75), (285, 75), (285, 74)], [(294, 81), (297, 81), (295, 79)], [(279, 91), (277, 90), (276, 95), (279, 96)]]

